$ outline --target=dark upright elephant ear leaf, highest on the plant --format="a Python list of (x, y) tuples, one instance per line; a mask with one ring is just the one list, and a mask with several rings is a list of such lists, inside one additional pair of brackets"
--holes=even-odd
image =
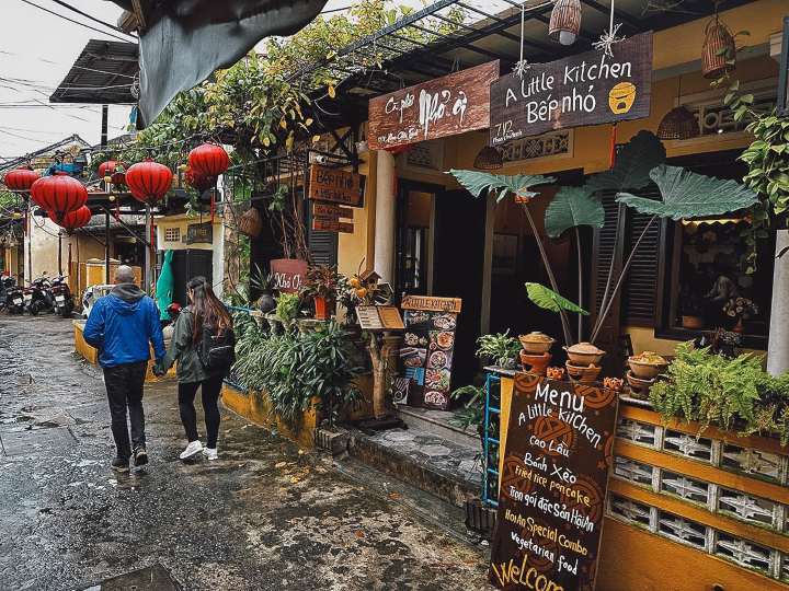
[(650, 171), (665, 162), (665, 146), (651, 131), (639, 131), (625, 144), (610, 171), (595, 174), (587, 186), (592, 192), (640, 189), (649, 185)]

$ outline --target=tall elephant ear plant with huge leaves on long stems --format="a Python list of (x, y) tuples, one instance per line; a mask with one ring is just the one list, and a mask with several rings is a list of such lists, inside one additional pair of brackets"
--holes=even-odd
[[(667, 166), (665, 148), (650, 131), (639, 131), (617, 157), (617, 162), (609, 171), (598, 173), (588, 178), (581, 187), (562, 187), (546, 209), (545, 227), (550, 237), (558, 237), (568, 230), (575, 232), (579, 243), (579, 303), (575, 304), (559, 294), (556, 276), (551, 269), (546, 254), (542, 239), (535, 225), (528, 204), (537, 195), (531, 187), (553, 183), (554, 178), (546, 176), (502, 176), (476, 171), (449, 171), (457, 181), (476, 197), (498, 193), (496, 201), (512, 194), (515, 201), (523, 206), (526, 219), (529, 222), (537, 246), (546, 267), (551, 289), (538, 283), (527, 283), (529, 299), (540, 308), (558, 312), (562, 321), (564, 340), (568, 345), (573, 341), (570, 331), (568, 313), (579, 316), (587, 314), (582, 308), (583, 265), (580, 257), (579, 228), (588, 225), (602, 228), (605, 223), (603, 204), (596, 196), (598, 192), (615, 192), (618, 204), (617, 218), (625, 215), (625, 208), (631, 208), (639, 213), (651, 216), (640, 236), (633, 244), (625, 264), (615, 277), (614, 262), (608, 268), (608, 276), (603, 292), (599, 313), (592, 326), (590, 341), (594, 343), (610, 312), (611, 305), (622, 286), (622, 281), (630, 269), (636, 252), (638, 251), (648, 230), (659, 218), (673, 220), (693, 219), (706, 216), (722, 216), (731, 211), (748, 208), (756, 202), (753, 190), (735, 183), (721, 181), (687, 170)], [(661, 199), (650, 199), (638, 196), (638, 192), (654, 183), (660, 189)], [(616, 243), (625, 240), (621, 224), (617, 225)], [(579, 317), (578, 340), (583, 335), (582, 318)]]

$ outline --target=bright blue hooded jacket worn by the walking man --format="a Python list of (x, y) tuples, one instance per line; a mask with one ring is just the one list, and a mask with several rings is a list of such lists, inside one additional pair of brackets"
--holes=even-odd
[(165, 354), (159, 310), (134, 283), (117, 285), (108, 296), (96, 300), (83, 336), (99, 349), (102, 368), (148, 361), (149, 344), (153, 345), (157, 361)]

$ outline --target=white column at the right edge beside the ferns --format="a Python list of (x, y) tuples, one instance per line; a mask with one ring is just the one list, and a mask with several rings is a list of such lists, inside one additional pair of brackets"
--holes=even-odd
[[(789, 247), (789, 231), (776, 234), (776, 254)], [(773, 303), (770, 332), (767, 344), (767, 371), (778, 375), (789, 371), (789, 253), (775, 260), (773, 271)]]

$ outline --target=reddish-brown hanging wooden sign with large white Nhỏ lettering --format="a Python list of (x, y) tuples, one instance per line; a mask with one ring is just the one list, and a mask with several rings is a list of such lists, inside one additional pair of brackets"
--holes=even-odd
[(490, 85), (498, 77), (499, 60), (371, 99), (369, 149), (487, 129)]

